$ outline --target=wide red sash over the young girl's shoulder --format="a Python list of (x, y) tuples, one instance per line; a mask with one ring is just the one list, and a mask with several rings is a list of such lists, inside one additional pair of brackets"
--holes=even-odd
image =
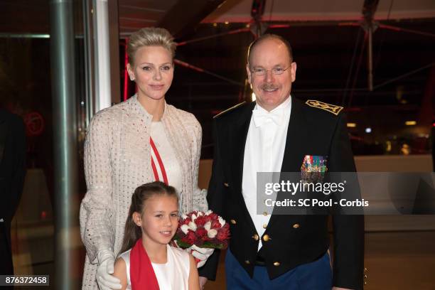
[(142, 239), (139, 239), (130, 251), (130, 282), (131, 290), (160, 289), (151, 260), (142, 245)]

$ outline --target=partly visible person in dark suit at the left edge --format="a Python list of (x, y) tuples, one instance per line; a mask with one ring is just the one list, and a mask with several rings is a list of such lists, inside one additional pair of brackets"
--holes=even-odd
[(23, 120), (0, 109), (0, 274), (14, 274), (11, 220), (26, 174), (26, 135)]

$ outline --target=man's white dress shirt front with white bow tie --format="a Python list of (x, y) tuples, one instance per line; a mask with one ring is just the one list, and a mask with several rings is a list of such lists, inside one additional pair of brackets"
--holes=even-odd
[[(259, 104), (252, 110), (243, 159), (242, 195), (259, 237), (266, 230), (272, 209), (267, 215), (257, 214), (257, 172), (281, 171), (290, 112), (291, 96), (270, 112)], [(260, 239), (258, 249), (261, 247)]]

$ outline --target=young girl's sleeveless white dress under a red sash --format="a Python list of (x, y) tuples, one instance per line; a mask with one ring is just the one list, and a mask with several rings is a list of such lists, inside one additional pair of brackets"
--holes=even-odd
[[(166, 247), (168, 249), (166, 264), (151, 262), (157, 281), (159, 282), (160, 290), (188, 290), (190, 273), (190, 258), (188, 252), (169, 245)], [(131, 249), (119, 255), (119, 257), (124, 259), (126, 264), (127, 290), (131, 290), (130, 251)]]

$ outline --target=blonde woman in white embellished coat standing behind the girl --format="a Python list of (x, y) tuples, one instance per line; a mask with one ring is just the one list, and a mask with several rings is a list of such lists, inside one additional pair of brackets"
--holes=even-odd
[[(198, 188), (200, 124), (193, 114), (165, 101), (175, 49), (163, 28), (133, 33), (127, 70), (137, 94), (92, 118), (85, 142), (87, 193), (80, 206), (87, 251), (82, 289), (121, 288), (112, 276), (114, 260), (136, 187), (163, 181), (176, 188), (180, 213), (207, 209), (205, 190)], [(205, 260), (211, 254), (200, 251), (193, 255)]]

